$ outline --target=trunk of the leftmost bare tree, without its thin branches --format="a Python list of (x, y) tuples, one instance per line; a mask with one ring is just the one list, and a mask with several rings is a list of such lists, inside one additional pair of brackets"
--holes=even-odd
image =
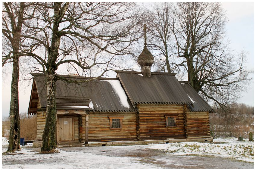
[[(18, 12), (13, 12), (14, 7), (10, 2), (4, 2), (6, 12), (11, 21), (12, 38), (8, 39), (12, 46), (12, 80), (11, 80), (11, 103), (10, 103), (10, 136), (8, 152), (13, 152), (20, 149), (20, 114), (19, 114), (19, 48), (20, 34), (23, 24), (23, 14), (25, 3), (20, 2), (19, 8), (15, 9)], [(14, 15), (17, 15), (17, 24)]]

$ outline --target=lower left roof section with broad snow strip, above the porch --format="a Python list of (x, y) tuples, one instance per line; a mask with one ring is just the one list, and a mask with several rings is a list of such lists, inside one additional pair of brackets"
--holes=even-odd
[[(46, 80), (45, 76), (33, 74), (39, 101), (42, 108), (46, 107)], [(60, 75), (59, 75), (60, 76)], [(66, 76), (71, 80), (86, 80), (89, 77), (78, 77), (78, 76)], [(95, 79), (89, 82), (67, 83), (62, 80), (56, 81), (56, 104), (58, 109), (58, 103), (63, 106), (64, 98), (73, 97), (77, 101), (84, 100), (83, 104), (75, 103), (76, 105), (67, 104), (69, 109), (91, 109), (93, 111), (101, 112), (129, 112), (134, 111), (129, 99), (127, 98), (120, 81), (115, 78)], [(89, 101), (86, 101), (85, 97)], [(62, 99), (62, 100), (61, 100)], [(75, 99), (70, 99), (73, 101)], [(79, 104), (79, 105), (78, 105)], [(65, 108), (67, 109), (67, 107)]]

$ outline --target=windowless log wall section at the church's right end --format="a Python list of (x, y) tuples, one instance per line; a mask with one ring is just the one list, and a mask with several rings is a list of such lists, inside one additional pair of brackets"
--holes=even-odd
[(188, 136), (210, 135), (209, 112), (191, 112), (187, 110)]

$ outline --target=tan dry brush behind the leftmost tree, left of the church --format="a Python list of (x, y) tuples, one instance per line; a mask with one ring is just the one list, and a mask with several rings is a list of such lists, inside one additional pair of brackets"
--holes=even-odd
[[(10, 120), (6, 117), (2, 120), (2, 137), (9, 138)], [(36, 139), (36, 115), (28, 116), (27, 113), (20, 113), (20, 137), (25, 140)]]

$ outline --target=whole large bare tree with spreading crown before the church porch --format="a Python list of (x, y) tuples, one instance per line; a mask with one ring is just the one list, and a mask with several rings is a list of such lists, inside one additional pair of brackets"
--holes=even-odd
[[(88, 76), (92, 68), (103, 76), (115, 66), (120, 55), (134, 55), (132, 46), (139, 33), (140, 15), (134, 3), (127, 2), (44, 2), (40, 3), (33, 18), (34, 24), (26, 27), (34, 31), (30, 46), (40, 44), (41, 51), (27, 52), (33, 57), (28, 62), (30, 69), (44, 73), (47, 88), (46, 124), (43, 132), (41, 151), (51, 151), (56, 147), (56, 104), (57, 80), (78, 83), (56, 75), (63, 64), (79, 75)], [(39, 64), (39, 65), (38, 65)], [(81, 74), (82, 73), (82, 74)]]

